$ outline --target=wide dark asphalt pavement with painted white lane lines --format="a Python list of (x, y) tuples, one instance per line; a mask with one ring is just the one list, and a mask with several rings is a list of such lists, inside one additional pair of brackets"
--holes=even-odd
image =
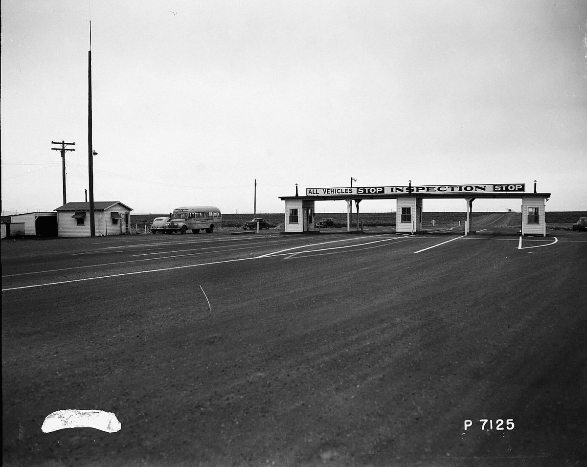
[(587, 235), (501, 221), (3, 241), (4, 464), (583, 465)]

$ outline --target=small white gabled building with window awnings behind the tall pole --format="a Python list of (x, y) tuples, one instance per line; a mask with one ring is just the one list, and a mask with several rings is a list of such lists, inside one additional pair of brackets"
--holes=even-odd
[[(94, 225), (96, 236), (130, 233), (130, 211), (120, 201), (95, 201)], [(57, 235), (60, 237), (90, 236), (90, 203), (68, 202), (57, 211)]]

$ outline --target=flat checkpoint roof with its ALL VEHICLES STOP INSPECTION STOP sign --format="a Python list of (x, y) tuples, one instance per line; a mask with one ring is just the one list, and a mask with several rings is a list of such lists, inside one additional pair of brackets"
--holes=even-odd
[[(522, 195), (536, 195), (547, 199), (551, 196), (550, 193), (527, 193), (526, 184), (524, 183), (503, 183), (306, 188), (306, 195), (303, 198), (325, 201), (336, 199), (394, 199), (406, 196), (422, 198), (521, 198)], [(279, 198), (291, 199), (296, 197)]]

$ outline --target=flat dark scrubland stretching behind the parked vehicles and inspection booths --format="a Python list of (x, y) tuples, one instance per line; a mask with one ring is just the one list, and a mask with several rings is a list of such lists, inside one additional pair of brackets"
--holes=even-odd
[[(489, 212), (473, 212), (473, 219), (481, 216), (492, 214)], [(149, 229), (153, 219), (160, 216), (168, 216), (169, 214), (131, 214), (130, 223), (134, 231), (144, 232), (145, 228)], [(353, 212), (352, 221), (356, 222), (356, 212)], [(465, 212), (423, 212), (422, 224), (424, 226), (435, 224), (454, 224), (458, 221), (464, 221), (467, 214)], [(576, 222), (579, 217), (587, 216), (587, 212), (583, 211), (546, 211), (546, 224), (551, 224), (552, 228), (570, 228), (573, 222)], [(243, 222), (250, 221), (254, 217), (253, 214), (222, 214), (222, 225), (224, 228), (239, 228)], [(272, 222), (275, 225), (284, 223), (284, 214), (281, 212), (271, 214), (257, 214), (257, 217), (264, 218), (266, 221)], [(333, 218), (335, 225), (339, 227), (346, 226), (346, 212), (321, 212), (315, 216), (315, 221), (324, 218)], [(517, 213), (515, 216), (510, 216), (510, 222), (507, 226), (521, 226), (521, 214)], [(386, 227), (396, 225), (395, 212), (361, 212), (359, 220), (363, 222), (366, 227)]]

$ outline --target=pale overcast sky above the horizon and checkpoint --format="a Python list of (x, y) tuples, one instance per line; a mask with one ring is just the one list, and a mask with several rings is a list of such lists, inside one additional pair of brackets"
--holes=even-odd
[[(585, 0), (1, 0), (2, 212), (283, 212), (306, 188), (525, 183), (587, 210)], [(521, 200), (475, 201), (519, 211)], [(316, 202), (316, 213), (346, 203)], [(362, 212), (395, 210), (363, 201)], [(424, 211), (465, 201), (424, 199)]]

